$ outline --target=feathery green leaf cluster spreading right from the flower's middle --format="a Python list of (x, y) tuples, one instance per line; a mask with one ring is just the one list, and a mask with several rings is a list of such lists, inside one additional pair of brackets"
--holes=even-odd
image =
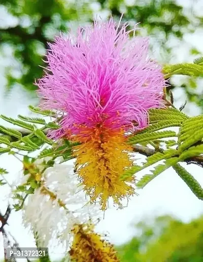
[[(146, 151), (148, 144), (150, 144), (154, 147), (154, 153), (146, 158), (146, 162), (142, 166), (134, 165), (131, 169), (126, 170), (122, 174), (121, 180), (125, 180), (127, 177), (158, 163), (160, 160), (164, 160), (164, 163), (150, 170), (152, 174), (144, 175), (137, 182), (137, 187), (143, 188), (164, 170), (174, 167), (174, 165), (179, 165), (177, 164), (178, 162), (191, 159), (191, 157), (201, 156), (203, 153), (202, 119), (202, 115), (188, 117), (174, 108), (151, 109), (149, 112), (149, 126), (130, 137), (128, 143), (134, 146), (136, 144), (144, 145), (146, 146)], [(171, 130), (162, 130), (173, 126), (179, 127), (178, 134)], [(157, 130), (162, 131), (157, 132)], [(177, 137), (178, 140), (171, 140), (171, 137)], [(164, 141), (163, 139), (167, 140)], [(162, 149), (161, 143), (165, 144), (167, 149)], [(199, 143), (199, 145), (196, 145), (196, 143)], [(175, 145), (177, 147), (173, 149), (172, 147)]]

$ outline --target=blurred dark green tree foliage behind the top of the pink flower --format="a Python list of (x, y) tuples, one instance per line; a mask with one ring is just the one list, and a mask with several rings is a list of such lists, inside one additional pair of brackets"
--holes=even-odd
[[(59, 30), (65, 32), (75, 22), (81, 25), (91, 23), (93, 15), (105, 11), (117, 20), (124, 13), (123, 22), (129, 21), (130, 26), (141, 23), (139, 34), (150, 36), (156, 59), (162, 63), (171, 60), (175, 63), (176, 54), (172, 52), (171, 41), (182, 41), (186, 33), (192, 33), (203, 25), (203, 17), (193, 12), (198, 1), (187, 2), (191, 3), (188, 10), (177, 4), (176, 0), (1, 0), (0, 7), (4, 6), (18, 19), (15, 26), (3, 26), (0, 19), (0, 56), (1, 53), (7, 56), (5, 48), (9, 45), (18, 62), (17, 76), (12, 66), (6, 68), (7, 88), (18, 83), (27, 90), (35, 90), (33, 82), (43, 74), (45, 64), (42, 58), (45, 58), (48, 48), (47, 41), (52, 41)], [(195, 58), (201, 54), (191, 46), (190, 55)], [(170, 88), (176, 86), (177, 83), (173, 82)], [(185, 78), (181, 87), (187, 99), (203, 110), (203, 91), (196, 92), (196, 80)]]

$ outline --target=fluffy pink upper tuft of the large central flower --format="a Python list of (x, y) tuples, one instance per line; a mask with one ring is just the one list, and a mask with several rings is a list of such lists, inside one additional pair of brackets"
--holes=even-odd
[(78, 134), (80, 124), (144, 128), (148, 110), (163, 107), (161, 66), (147, 55), (148, 39), (130, 38), (126, 27), (95, 22), (74, 41), (61, 36), (50, 44), (48, 73), (37, 85), (41, 108), (64, 113), (56, 137)]

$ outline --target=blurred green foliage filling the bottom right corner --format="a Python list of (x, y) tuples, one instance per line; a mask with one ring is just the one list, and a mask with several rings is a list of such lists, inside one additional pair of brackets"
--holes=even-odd
[(122, 262), (201, 262), (203, 217), (189, 223), (171, 216), (156, 218), (153, 225), (137, 224), (141, 233), (117, 247)]

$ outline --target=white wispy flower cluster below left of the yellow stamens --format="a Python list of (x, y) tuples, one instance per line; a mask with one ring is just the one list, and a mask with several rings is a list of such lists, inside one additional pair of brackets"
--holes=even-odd
[[(95, 222), (102, 215), (99, 206), (88, 203), (85, 192), (73, 168), (67, 164), (55, 164), (43, 174), (44, 184), (56, 199), (42, 193), (42, 188), (28, 196), (23, 208), (25, 226), (38, 233), (38, 241), (42, 246), (59, 241), (69, 246), (71, 229), (75, 223), (85, 223), (89, 219)], [(58, 200), (65, 204), (61, 207)], [(52, 243), (50, 243), (52, 241)]]

